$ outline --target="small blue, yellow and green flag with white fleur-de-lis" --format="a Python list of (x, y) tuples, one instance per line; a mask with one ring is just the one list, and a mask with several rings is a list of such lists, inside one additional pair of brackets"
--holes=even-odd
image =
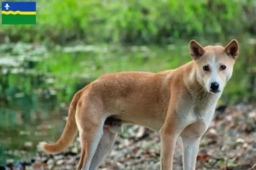
[(3, 25), (34, 25), (36, 15), (36, 2), (2, 2)]

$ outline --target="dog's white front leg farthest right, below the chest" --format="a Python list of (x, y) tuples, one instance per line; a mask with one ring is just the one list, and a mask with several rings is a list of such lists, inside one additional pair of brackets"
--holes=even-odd
[(186, 138), (183, 140), (183, 170), (195, 170), (195, 162), (201, 137)]

